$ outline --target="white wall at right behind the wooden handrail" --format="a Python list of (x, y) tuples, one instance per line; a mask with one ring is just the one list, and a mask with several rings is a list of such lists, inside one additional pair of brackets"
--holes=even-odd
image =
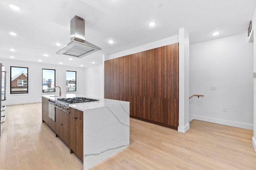
[(252, 72), (247, 33), (190, 45), (190, 120), (253, 129)]

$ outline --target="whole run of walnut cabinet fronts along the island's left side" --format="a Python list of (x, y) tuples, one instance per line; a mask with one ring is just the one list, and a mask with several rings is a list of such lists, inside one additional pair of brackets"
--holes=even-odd
[(70, 113), (55, 108), (55, 121), (48, 116), (47, 98), (42, 97), (42, 122), (45, 122), (64, 143), (84, 161), (84, 114), (83, 111), (70, 107)]

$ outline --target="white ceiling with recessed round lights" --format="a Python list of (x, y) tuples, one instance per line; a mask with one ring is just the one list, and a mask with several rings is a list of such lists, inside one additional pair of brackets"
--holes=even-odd
[[(0, 59), (93, 66), (102, 64), (103, 54), (177, 35), (182, 27), (190, 33), (190, 44), (245, 33), (255, 8), (256, 0), (1, 0)], [(81, 59), (56, 54), (70, 42), (75, 15), (85, 19), (86, 41), (102, 48)], [(156, 25), (148, 26), (150, 21)], [(214, 31), (220, 34), (211, 35)]]

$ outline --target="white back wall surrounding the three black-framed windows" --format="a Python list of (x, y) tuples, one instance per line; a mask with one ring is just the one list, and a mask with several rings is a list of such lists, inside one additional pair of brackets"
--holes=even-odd
[[(56, 92), (42, 93), (42, 69), (55, 69), (56, 70), (56, 86), (60, 86), (62, 94), (75, 93), (84, 94), (84, 68), (61, 66), (54, 64), (32, 63), (14, 60), (0, 59), (0, 63), (3, 63), (6, 75), (6, 101), (3, 101), (3, 105), (14, 104), (26, 104), (41, 102), (42, 95), (58, 94), (59, 89)], [(28, 67), (28, 94), (10, 94), (10, 66)], [(77, 75), (77, 92), (66, 92), (66, 70), (76, 71)]]

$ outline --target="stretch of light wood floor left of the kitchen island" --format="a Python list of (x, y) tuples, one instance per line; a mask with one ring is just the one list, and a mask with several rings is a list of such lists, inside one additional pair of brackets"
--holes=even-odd
[(0, 137), (0, 169), (83, 169), (82, 163), (42, 123), (41, 103), (6, 107)]

